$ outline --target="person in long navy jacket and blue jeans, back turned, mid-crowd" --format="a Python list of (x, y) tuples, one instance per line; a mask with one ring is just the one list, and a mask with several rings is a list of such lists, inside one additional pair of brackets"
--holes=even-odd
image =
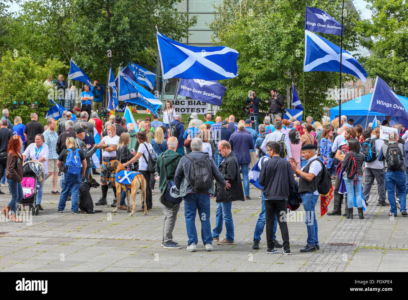
[(255, 145), (250, 134), (245, 133), (245, 124), (238, 124), (238, 131), (231, 134), (229, 143), (231, 144), (231, 149), (235, 154), (239, 167), (242, 170), (242, 179), (244, 181), (244, 192), (245, 200), (250, 200), (249, 197), (249, 179), (248, 179), (248, 167), (251, 162), (251, 157), (249, 156), (249, 149), (254, 149)]

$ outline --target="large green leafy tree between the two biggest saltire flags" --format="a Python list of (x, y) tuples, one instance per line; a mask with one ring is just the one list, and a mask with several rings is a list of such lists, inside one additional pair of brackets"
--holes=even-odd
[[(308, 6), (323, 9), (341, 21), (340, 0), (313, 1)], [(286, 85), (292, 82), (305, 104), (304, 116), (319, 120), (325, 106), (335, 105), (327, 100), (327, 94), (328, 89), (338, 87), (339, 73), (305, 72), (303, 78), (305, 7), (304, 0), (224, 0), (217, 8), (211, 24), (214, 42), (239, 52), (239, 75), (222, 81), (227, 87), (221, 107), (226, 114), (244, 117), (249, 90), (257, 91), (259, 108), (267, 112), (270, 89), (276, 88), (286, 98)], [(345, 15), (343, 47), (350, 52), (358, 45), (354, 29), (357, 13), (347, 11)], [(340, 45), (340, 36), (319, 35)]]

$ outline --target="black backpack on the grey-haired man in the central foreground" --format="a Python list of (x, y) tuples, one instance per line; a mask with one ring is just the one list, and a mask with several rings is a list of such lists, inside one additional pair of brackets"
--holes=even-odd
[(213, 173), (211, 171), (211, 164), (207, 161), (207, 157), (207, 153), (201, 158), (194, 158), (191, 154), (186, 154), (186, 158), (193, 162), (190, 169), (190, 181), (188, 181), (187, 177), (186, 179), (195, 193), (207, 192), (211, 189), (211, 185), (213, 184)]

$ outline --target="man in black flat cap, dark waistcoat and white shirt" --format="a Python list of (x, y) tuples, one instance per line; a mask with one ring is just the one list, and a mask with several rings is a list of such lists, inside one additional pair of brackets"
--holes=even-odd
[(300, 252), (313, 252), (319, 250), (319, 240), (317, 239), (317, 221), (315, 214), (315, 206), (319, 198), (317, 191), (317, 182), (322, 178), (323, 164), (316, 155), (316, 146), (314, 144), (306, 144), (302, 147), (302, 155), (307, 163), (302, 169), (297, 167), (295, 158), (290, 158), (290, 164), (293, 171), (299, 178), (298, 192), (302, 197), (303, 208), (305, 211), (305, 223), (307, 227), (307, 245), (300, 249)]

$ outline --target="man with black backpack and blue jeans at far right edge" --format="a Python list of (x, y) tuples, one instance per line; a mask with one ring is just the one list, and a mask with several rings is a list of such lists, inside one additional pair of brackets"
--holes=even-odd
[[(385, 186), (390, 202), (390, 216), (397, 217), (397, 208), (402, 216), (408, 216), (406, 209), (406, 165), (404, 160), (404, 147), (398, 142), (399, 135), (392, 131), (388, 135), (388, 143), (381, 147), (378, 160), (384, 161)], [(395, 189), (398, 191), (399, 203), (395, 200)], [(378, 204), (377, 204), (378, 205)]]

